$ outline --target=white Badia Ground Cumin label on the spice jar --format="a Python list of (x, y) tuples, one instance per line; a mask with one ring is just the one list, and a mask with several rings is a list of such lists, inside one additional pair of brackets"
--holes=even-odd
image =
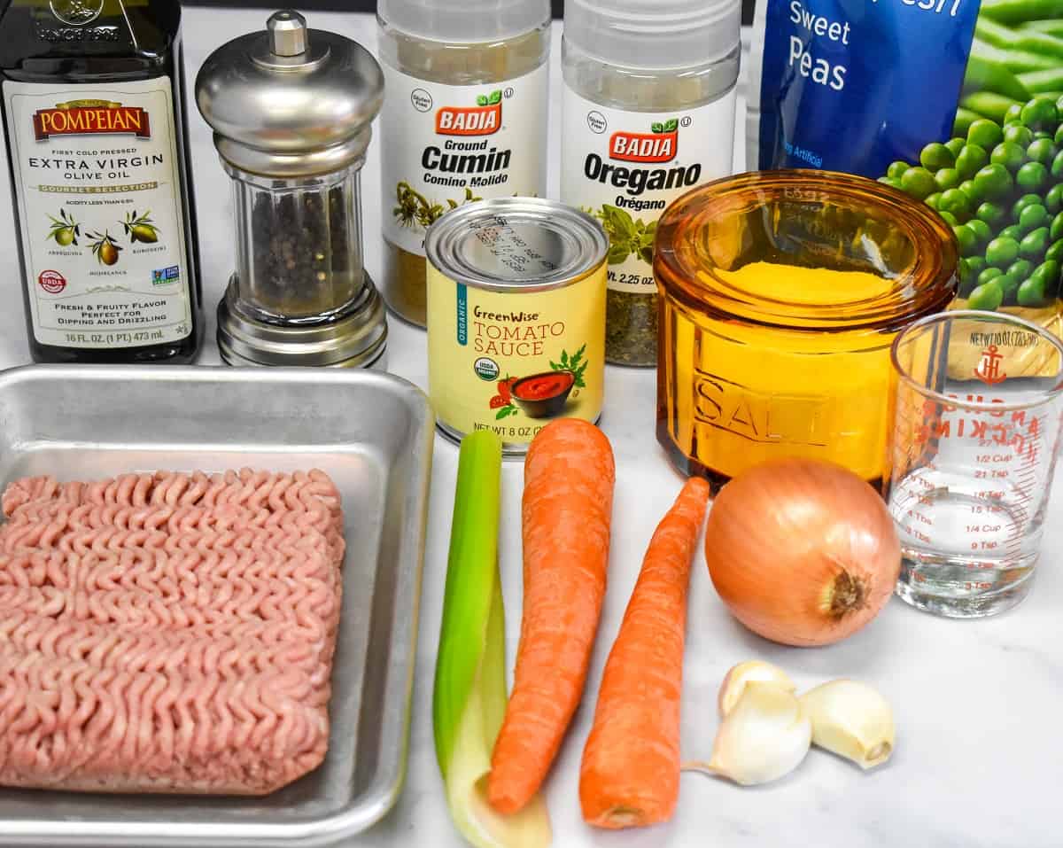
[(499, 83), (442, 85), (384, 64), (384, 237), (424, 256), (450, 209), (546, 191), (546, 63)]

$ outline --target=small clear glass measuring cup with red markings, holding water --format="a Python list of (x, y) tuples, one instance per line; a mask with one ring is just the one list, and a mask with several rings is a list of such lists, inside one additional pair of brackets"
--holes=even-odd
[(1063, 344), (1001, 312), (917, 321), (893, 342), (888, 502), (897, 594), (958, 618), (1030, 591), (1063, 427)]

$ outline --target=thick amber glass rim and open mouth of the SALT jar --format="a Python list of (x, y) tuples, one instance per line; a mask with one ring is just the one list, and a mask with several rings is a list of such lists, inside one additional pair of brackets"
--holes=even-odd
[[(754, 262), (767, 273), (737, 273)], [(723, 318), (893, 330), (948, 305), (958, 264), (951, 230), (926, 204), (864, 177), (793, 169), (676, 200), (657, 224), (654, 273), (668, 294)], [(788, 266), (865, 273), (809, 285)]]

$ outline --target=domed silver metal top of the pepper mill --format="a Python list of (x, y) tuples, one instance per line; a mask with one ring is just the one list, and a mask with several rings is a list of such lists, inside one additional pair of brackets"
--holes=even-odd
[(221, 157), (266, 176), (357, 162), (383, 99), (384, 74), (368, 50), (308, 29), (290, 10), (274, 13), (265, 31), (218, 48), (196, 80), (196, 102)]

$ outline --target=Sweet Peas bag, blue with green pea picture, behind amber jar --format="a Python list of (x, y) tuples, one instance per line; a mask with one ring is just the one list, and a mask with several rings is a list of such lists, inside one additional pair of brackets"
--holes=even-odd
[(762, 170), (923, 200), (960, 245), (954, 308), (1061, 335), (1063, 0), (758, 0), (747, 138)]

